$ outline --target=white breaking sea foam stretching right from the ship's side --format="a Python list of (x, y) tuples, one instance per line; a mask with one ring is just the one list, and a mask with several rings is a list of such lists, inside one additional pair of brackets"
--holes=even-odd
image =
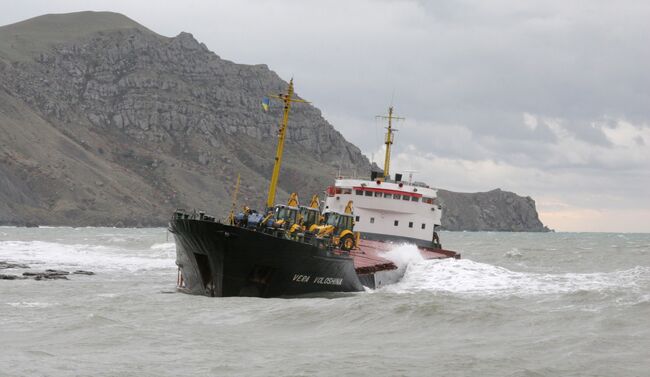
[(537, 295), (631, 289), (650, 278), (650, 268), (615, 272), (540, 274), (511, 271), (468, 259), (423, 260), (408, 264), (396, 293), (431, 291), (468, 295)]

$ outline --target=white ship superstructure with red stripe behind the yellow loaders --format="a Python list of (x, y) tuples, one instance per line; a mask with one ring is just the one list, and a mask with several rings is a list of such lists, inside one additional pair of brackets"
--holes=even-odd
[(437, 191), (421, 183), (340, 178), (327, 189), (323, 211), (342, 213), (350, 200), (362, 238), (430, 244), (442, 217)]

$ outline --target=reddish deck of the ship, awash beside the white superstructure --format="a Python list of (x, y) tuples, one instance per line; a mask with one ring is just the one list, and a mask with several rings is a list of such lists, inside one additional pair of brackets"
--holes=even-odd
[[(390, 251), (394, 246), (395, 244), (389, 242), (362, 239), (359, 248), (350, 251), (350, 256), (354, 259), (354, 268), (357, 273), (363, 274), (396, 269), (397, 266), (395, 263), (383, 256), (384, 253)], [(418, 249), (424, 259), (460, 258), (460, 254), (450, 250), (427, 247), (418, 247)]]

